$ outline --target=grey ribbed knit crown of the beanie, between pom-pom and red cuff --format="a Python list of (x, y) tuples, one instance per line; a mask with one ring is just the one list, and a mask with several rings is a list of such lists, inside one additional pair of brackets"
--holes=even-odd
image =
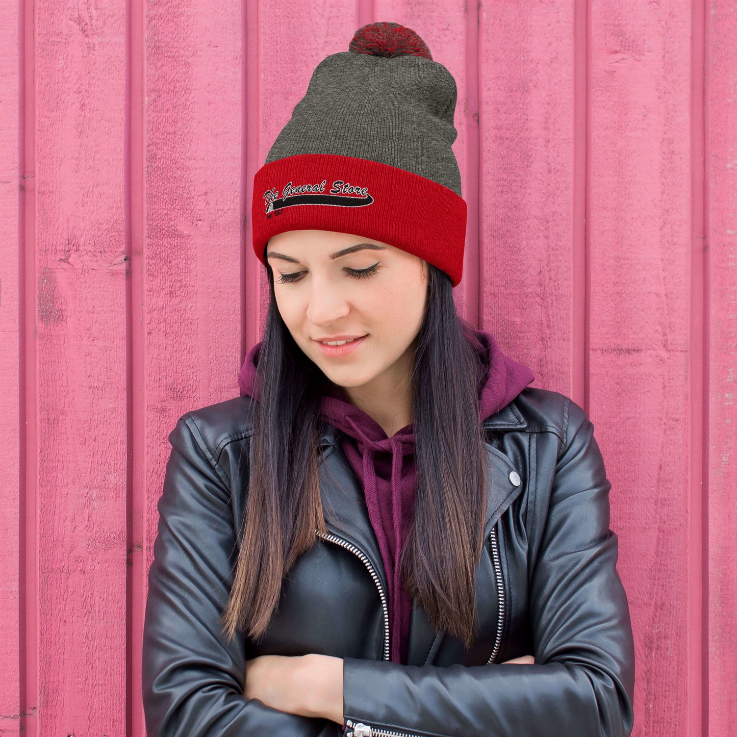
[(367, 158), (419, 174), (461, 197), (451, 148), (458, 136), (457, 94), (453, 74), (425, 57), (332, 54), (312, 72), (307, 93), (265, 163), (298, 153)]

